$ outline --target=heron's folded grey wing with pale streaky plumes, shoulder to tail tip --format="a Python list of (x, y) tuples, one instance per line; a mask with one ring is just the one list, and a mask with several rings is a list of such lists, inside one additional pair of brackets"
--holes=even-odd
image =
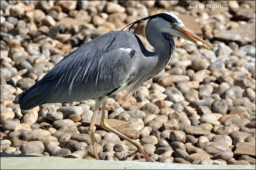
[(109, 95), (128, 80), (135, 55), (135, 50), (118, 48), (100, 57), (66, 56), (18, 97), (20, 107), (30, 109), (45, 103), (73, 102)]

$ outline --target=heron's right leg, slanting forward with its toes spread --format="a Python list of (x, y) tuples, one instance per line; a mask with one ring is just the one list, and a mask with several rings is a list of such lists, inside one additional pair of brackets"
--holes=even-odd
[(142, 156), (146, 159), (146, 161), (148, 162), (152, 162), (150, 160), (150, 158), (148, 157), (148, 154), (146, 153), (146, 151), (144, 150), (143, 146), (134, 141), (134, 140), (131, 140), (129, 139), (127, 136), (121, 134), (120, 132), (118, 132), (117, 130), (111, 128), (108, 123), (106, 122), (106, 101), (104, 101), (102, 103), (102, 115), (101, 115), (101, 121), (100, 121), (100, 126), (102, 128), (104, 128), (105, 130), (108, 130), (109, 132), (112, 132), (114, 134), (116, 134), (117, 136), (119, 136), (120, 138), (123, 138), (124, 140), (126, 140), (127, 142), (130, 142), (131, 144), (133, 144), (134, 146), (136, 146), (136, 148), (138, 148), (137, 151), (135, 151), (134, 153), (130, 154), (129, 156), (134, 156), (135, 154), (141, 152), (142, 153)]

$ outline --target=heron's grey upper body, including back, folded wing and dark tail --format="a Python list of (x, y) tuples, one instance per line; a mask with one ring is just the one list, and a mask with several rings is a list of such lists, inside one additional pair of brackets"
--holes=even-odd
[(20, 108), (106, 96), (124, 85), (135, 58), (145, 50), (132, 32), (109, 32), (80, 46), (62, 59), (17, 100)]

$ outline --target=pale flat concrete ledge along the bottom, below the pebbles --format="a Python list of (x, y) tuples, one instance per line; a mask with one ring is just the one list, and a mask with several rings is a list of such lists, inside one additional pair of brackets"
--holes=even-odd
[(130, 162), (130, 161), (102, 161), (102, 160), (82, 160), (73, 158), (45, 157), (45, 156), (25, 156), (25, 155), (6, 155), (1, 153), (1, 170), (4, 169), (163, 169), (163, 170), (182, 170), (182, 169), (234, 169), (234, 170), (255, 170), (255, 165), (189, 165), (189, 164), (167, 164), (149, 162)]

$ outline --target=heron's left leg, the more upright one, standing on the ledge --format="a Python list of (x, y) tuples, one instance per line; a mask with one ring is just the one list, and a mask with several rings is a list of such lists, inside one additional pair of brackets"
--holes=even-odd
[(100, 105), (102, 104), (102, 102), (105, 100), (106, 97), (101, 97), (101, 98), (95, 98), (95, 108), (94, 108), (94, 112), (92, 115), (92, 121), (90, 123), (89, 129), (88, 129), (88, 135), (90, 137), (91, 143), (92, 143), (92, 148), (94, 151), (94, 155), (96, 160), (100, 160), (99, 155), (98, 155), (98, 151), (97, 151), (97, 146), (94, 140), (94, 132), (95, 132), (95, 121), (96, 121), (96, 117), (100, 108)]

